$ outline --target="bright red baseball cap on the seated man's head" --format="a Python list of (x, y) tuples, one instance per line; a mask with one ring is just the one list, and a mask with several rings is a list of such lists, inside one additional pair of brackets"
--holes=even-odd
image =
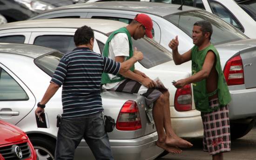
[(134, 20), (140, 22), (146, 28), (146, 36), (148, 38), (153, 38), (153, 35), (151, 32), (153, 28), (153, 22), (147, 14), (143, 14), (143, 13), (137, 14)]

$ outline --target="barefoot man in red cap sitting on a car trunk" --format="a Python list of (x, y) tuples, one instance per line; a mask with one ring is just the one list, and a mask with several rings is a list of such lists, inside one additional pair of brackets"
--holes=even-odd
[[(127, 26), (113, 32), (105, 44), (103, 56), (118, 62), (132, 58), (132, 39), (144, 37), (153, 38), (153, 22), (147, 14), (137, 14)], [(138, 93), (145, 97), (147, 105), (154, 103), (153, 118), (155, 121), (158, 140), (156, 145), (170, 153), (182, 153), (178, 147), (192, 147), (192, 144), (179, 138), (171, 128), (169, 92), (168, 90), (154, 89), (156, 83), (146, 74), (131, 67), (119, 75), (102, 74), (101, 83), (104, 89), (125, 93)]]

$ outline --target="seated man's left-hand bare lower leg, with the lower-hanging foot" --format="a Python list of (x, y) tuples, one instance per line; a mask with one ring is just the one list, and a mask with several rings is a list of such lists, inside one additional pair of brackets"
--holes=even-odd
[(169, 153), (182, 153), (182, 150), (177, 148), (177, 147), (172, 147), (172, 146), (168, 146), (165, 143), (165, 139), (166, 139), (166, 135), (165, 132), (163, 130), (163, 106), (164, 105), (164, 100), (163, 100), (163, 95), (161, 95), (154, 104), (153, 107), (153, 118), (155, 121), (155, 128), (158, 134), (158, 140), (156, 141), (156, 145), (158, 147), (163, 148), (164, 150), (166, 150)]

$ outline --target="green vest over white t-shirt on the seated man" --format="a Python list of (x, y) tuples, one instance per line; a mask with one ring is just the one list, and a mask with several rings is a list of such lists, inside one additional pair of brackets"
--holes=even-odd
[[(130, 33), (126, 29), (126, 27), (122, 27), (113, 33), (110, 34), (108, 37), (108, 40), (104, 46), (103, 49), (103, 57), (108, 57), (108, 52), (109, 52), (109, 42), (113, 39), (116, 33), (126, 33), (128, 36), (129, 40), (129, 58), (130, 59), (133, 56), (133, 42)], [(134, 65), (130, 68), (130, 70), (133, 72), (134, 71)], [(106, 84), (106, 83), (115, 83), (115, 82), (120, 82), (121, 80), (124, 80), (125, 78), (121, 74), (117, 74), (117, 77), (114, 80), (110, 80), (108, 73), (102, 73), (102, 78), (101, 78), (101, 84)]]

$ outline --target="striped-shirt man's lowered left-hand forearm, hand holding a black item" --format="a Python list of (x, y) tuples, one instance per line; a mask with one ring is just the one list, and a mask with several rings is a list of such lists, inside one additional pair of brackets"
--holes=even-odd
[[(59, 85), (51, 82), (42, 100), (40, 101), (40, 104), (45, 105), (54, 96), (54, 94), (58, 91), (59, 88), (60, 88)], [(37, 109), (35, 110), (35, 114), (40, 115), (40, 113), (44, 113), (44, 108), (37, 107)]]

